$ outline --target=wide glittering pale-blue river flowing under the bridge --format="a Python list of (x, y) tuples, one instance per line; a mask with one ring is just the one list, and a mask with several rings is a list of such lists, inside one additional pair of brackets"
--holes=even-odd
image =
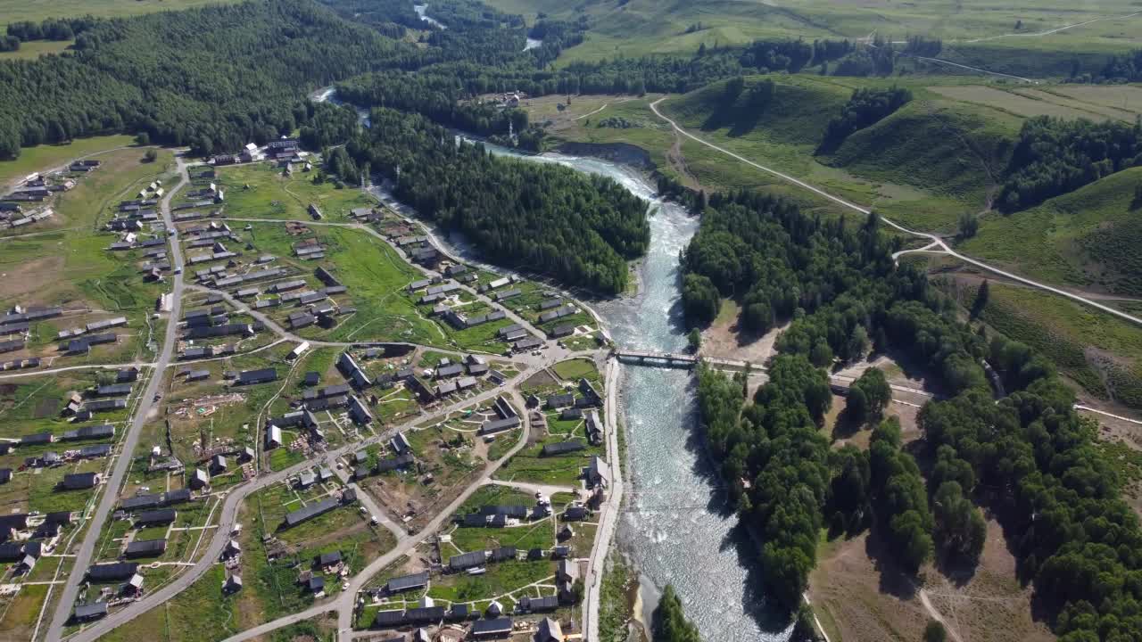
[[(656, 198), (650, 183), (626, 166), (485, 146), (500, 155), (609, 176), (651, 203), (651, 244), (638, 265), (638, 294), (593, 307), (620, 346), (684, 351), (678, 252), (698, 230), (698, 220), (684, 208)], [(451, 249), (469, 254), (466, 248)], [(673, 584), (686, 616), (708, 642), (788, 640), (789, 629), (774, 621), (757, 591), (756, 547), (727, 507), (722, 482), (702, 448), (692, 375), (627, 366), (620, 393), (628, 485), (617, 538), (640, 575), (644, 621), (651, 621), (661, 588)]]

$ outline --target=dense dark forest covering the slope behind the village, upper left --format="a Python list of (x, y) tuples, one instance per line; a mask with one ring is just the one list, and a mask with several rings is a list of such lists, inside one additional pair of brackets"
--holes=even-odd
[(210, 153), (288, 134), (305, 93), (383, 66), (411, 45), (307, 0), (264, 0), (99, 22), (75, 53), (0, 62), (0, 157), (110, 131)]

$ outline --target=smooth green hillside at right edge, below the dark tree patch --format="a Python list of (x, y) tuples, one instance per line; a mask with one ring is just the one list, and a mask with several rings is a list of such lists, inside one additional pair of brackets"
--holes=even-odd
[(1142, 296), (1140, 183), (1135, 167), (1026, 211), (989, 215), (962, 249), (1052, 282)]

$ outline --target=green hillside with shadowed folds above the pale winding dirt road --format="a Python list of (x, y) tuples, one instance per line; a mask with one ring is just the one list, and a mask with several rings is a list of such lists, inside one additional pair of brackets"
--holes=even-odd
[[(856, 131), (834, 154), (817, 155), (853, 87), (892, 81), (773, 78), (773, 101), (761, 113), (726, 104), (724, 82), (668, 99), (662, 109), (711, 143), (925, 230), (954, 232), (960, 215), (986, 209), (991, 175), (1002, 171), (1022, 122), (912, 82), (911, 103)], [(748, 79), (747, 91), (763, 81)]]

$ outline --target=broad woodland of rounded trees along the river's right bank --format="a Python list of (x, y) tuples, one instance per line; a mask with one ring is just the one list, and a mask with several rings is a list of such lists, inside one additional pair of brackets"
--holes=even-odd
[[(981, 504), (1004, 515), (1020, 576), (1034, 580), (1044, 612), (1056, 613), (1048, 617), (1061, 641), (1132, 640), (1142, 631), (1142, 529), (1073, 394), (1028, 346), (960, 322), (922, 273), (893, 268), (891, 250), (875, 217), (845, 228), (743, 194), (711, 198), (686, 250), (687, 280), (771, 306), (783, 290), (797, 295), (791, 314), (777, 314), (793, 321), (751, 402), (742, 379), (699, 374), (706, 436), (742, 519), (763, 536), (770, 591), (789, 608), (799, 603), (826, 523), (835, 535), (877, 531), (906, 572), (936, 555), (974, 563)], [(849, 258), (837, 263), (837, 251)], [(727, 258), (711, 260), (719, 254)], [(919, 416), (934, 463), (926, 479), (891, 419), (869, 451), (829, 452), (820, 436), (831, 402), (822, 367), (862, 356), (867, 337), (924, 364), (948, 393)], [(998, 403), (983, 359), (1007, 391)]]

